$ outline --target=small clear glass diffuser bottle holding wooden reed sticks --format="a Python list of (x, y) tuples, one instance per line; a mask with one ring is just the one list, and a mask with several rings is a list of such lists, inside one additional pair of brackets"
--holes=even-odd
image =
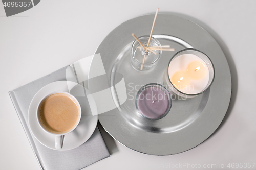
[[(141, 36), (138, 39), (145, 47), (147, 46), (149, 36)], [(151, 37), (150, 44), (148, 45), (148, 47), (151, 46), (161, 46), (161, 44), (156, 38)], [(153, 69), (157, 65), (157, 62), (162, 54), (162, 51), (160, 50), (153, 51), (155, 52), (155, 54), (151, 51), (145, 51), (144, 48), (140, 45), (140, 43), (137, 40), (135, 40), (132, 44), (130, 58), (133, 68), (138, 71), (146, 71)], [(144, 58), (145, 61), (143, 63)]]

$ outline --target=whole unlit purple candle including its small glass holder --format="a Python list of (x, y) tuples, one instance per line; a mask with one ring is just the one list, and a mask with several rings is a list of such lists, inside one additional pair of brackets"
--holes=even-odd
[(163, 118), (171, 106), (170, 93), (160, 84), (147, 84), (137, 93), (136, 108), (145, 118), (153, 120)]

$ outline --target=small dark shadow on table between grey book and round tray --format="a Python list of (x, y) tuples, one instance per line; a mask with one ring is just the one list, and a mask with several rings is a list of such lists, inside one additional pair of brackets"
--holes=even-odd
[(114, 141), (114, 138), (108, 134), (108, 132), (105, 131), (105, 129), (102, 127), (102, 125), (98, 122), (97, 124), (99, 131), (106, 143), (106, 147), (108, 147), (110, 154), (113, 155), (114, 153), (118, 152), (117, 145)]

